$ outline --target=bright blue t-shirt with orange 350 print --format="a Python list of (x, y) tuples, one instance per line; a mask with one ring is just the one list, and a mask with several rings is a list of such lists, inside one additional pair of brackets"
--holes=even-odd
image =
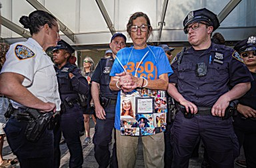
[[(147, 55), (143, 58), (145, 53)], [(168, 76), (173, 73), (165, 51), (161, 47), (150, 45), (145, 49), (133, 49), (133, 46), (126, 47), (118, 51), (117, 58), (128, 73), (135, 75), (137, 71), (137, 77), (145, 77), (148, 80), (159, 79), (163, 73), (168, 73)], [(111, 77), (124, 71), (118, 60), (115, 59), (114, 61), (110, 73)], [(120, 130), (120, 93), (119, 91), (115, 107), (115, 128), (118, 130)]]

